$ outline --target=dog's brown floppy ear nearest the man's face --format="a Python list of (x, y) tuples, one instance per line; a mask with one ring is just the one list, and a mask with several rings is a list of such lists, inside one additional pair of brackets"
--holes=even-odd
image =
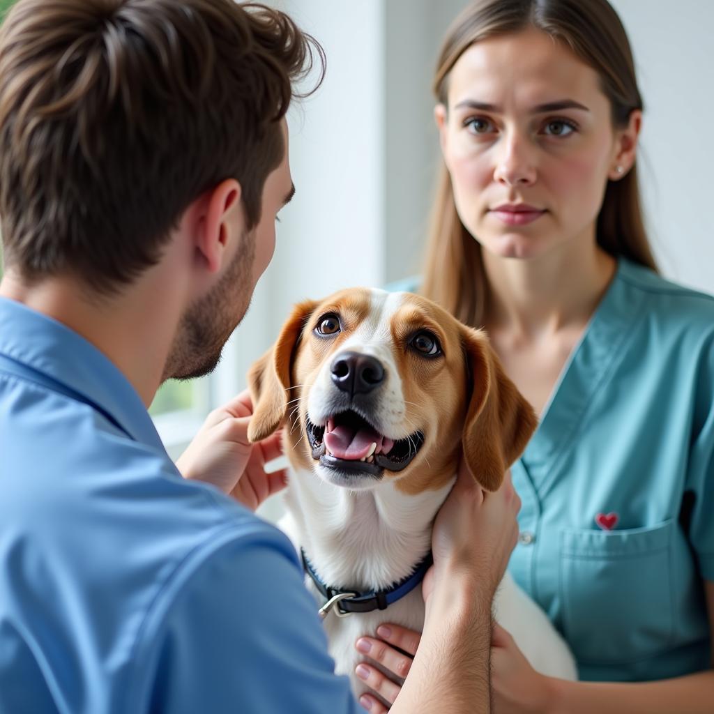
[(248, 370), (248, 388), (253, 401), (248, 439), (253, 443), (270, 436), (285, 418), (293, 352), (303, 326), (316, 306), (313, 301), (296, 305), (276, 343)]

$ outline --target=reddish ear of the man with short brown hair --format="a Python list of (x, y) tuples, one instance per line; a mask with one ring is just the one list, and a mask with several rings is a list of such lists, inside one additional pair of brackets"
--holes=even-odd
[[(244, 233), (241, 184), (234, 178), (226, 178), (218, 186), (207, 191), (203, 201), (196, 249), (208, 270), (217, 273), (226, 262), (226, 256), (235, 253), (235, 248), (226, 250), (230, 243), (229, 239), (237, 240)], [(238, 211), (240, 215), (236, 215)]]

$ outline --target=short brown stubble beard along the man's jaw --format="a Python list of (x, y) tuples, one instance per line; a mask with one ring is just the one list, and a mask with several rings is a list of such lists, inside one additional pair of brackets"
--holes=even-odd
[(162, 382), (203, 377), (216, 368), (223, 346), (248, 312), (253, 296), (255, 257), (256, 231), (253, 230), (241, 238), (240, 250), (216, 287), (183, 313)]

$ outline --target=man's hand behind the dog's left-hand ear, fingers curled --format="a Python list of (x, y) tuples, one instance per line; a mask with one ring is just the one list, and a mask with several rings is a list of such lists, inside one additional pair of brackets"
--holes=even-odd
[(281, 431), (264, 441), (248, 441), (253, 404), (247, 391), (212, 411), (200, 431), (176, 461), (184, 478), (218, 486), (255, 511), (286, 486), (286, 471), (266, 473), (268, 461), (282, 456)]

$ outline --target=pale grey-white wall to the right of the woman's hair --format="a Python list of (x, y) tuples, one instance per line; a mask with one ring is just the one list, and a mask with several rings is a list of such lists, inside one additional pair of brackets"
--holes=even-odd
[(665, 275), (714, 293), (714, 2), (611, 0), (645, 101), (643, 197)]

